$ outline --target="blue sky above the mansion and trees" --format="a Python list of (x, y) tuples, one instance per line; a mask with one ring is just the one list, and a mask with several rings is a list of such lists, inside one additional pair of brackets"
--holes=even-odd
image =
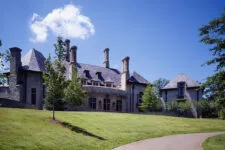
[(110, 67), (122, 70), (130, 57), (130, 72), (150, 82), (185, 73), (203, 82), (215, 66), (200, 43), (199, 28), (224, 12), (223, 0), (0, 0), (1, 51), (19, 47), (24, 56), (35, 48), (54, 54), (57, 36), (78, 47), (80, 63), (103, 66), (105, 48)]

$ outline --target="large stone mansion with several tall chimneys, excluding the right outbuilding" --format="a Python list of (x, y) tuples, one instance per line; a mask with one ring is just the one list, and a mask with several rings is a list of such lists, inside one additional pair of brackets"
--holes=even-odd
[[(136, 72), (129, 71), (129, 57), (122, 60), (122, 71), (110, 67), (109, 49), (104, 50), (104, 66), (77, 62), (77, 47), (66, 40), (66, 78), (71, 78), (72, 65), (77, 67), (83, 88), (87, 91), (86, 103), (78, 110), (137, 112), (143, 91), (149, 82)], [(21, 49), (10, 48), (10, 71), (5, 73), (8, 86), (0, 88), (0, 99), (43, 109), (46, 95), (42, 72), (45, 57), (31, 49), (21, 59)]]

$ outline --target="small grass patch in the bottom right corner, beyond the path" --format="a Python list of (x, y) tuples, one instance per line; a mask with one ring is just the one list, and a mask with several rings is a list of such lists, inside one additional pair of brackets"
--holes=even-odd
[(209, 137), (203, 143), (204, 150), (225, 150), (225, 134)]

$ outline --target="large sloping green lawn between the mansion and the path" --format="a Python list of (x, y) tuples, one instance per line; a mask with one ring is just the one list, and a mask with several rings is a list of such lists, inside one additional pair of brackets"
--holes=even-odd
[(225, 131), (225, 121), (104, 112), (0, 108), (0, 149), (101, 150), (171, 134)]

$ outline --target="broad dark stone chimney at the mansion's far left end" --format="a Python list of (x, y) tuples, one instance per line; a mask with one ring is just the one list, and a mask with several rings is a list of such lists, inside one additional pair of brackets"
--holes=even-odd
[(11, 60), (10, 60), (10, 74), (18, 75), (19, 68), (22, 66), (21, 62), (21, 49), (18, 47), (12, 47), (9, 49), (11, 52)]

